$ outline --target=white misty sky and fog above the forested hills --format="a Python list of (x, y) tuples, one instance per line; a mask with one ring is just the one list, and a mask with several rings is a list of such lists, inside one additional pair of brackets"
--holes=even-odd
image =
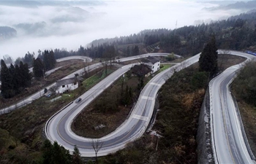
[(94, 39), (137, 34), (144, 29), (194, 25), (195, 20), (218, 20), (243, 11), (208, 12), (217, 4), (195, 1), (103, 1), (100, 4), (44, 4), (32, 7), (0, 5), (0, 26), (10, 26), (17, 37), (0, 40), (0, 58), (16, 59), (26, 52), (67, 48), (78, 50)]

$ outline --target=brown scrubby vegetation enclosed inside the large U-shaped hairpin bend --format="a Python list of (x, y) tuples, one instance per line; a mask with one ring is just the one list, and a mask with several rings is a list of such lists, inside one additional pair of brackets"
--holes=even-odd
[[(163, 71), (171, 65), (164, 65)], [(157, 71), (158, 74), (160, 71)], [(128, 117), (140, 90), (152, 77), (138, 77), (128, 71), (83, 109), (72, 123), (78, 136), (100, 138), (116, 130)], [(89, 79), (94, 79), (91, 77)], [(87, 83), (87, 82), (86, 82)]]

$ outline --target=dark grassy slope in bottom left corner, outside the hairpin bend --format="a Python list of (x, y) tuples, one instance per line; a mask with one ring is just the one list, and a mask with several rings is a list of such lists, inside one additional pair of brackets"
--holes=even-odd
[[(58, 77), (59, 74), (63, 76), (70, 73), (68, 68), (64, 70), (60, 69), (50, 76)], [(98, 78), (106, 77), (105, 69), (102, 68), (89, 72), (88, 76), (91, 77), (93, 74), (97, 74)], [(92, 82), (91, 86), (95, 84), (97, 81)], [(76, 90), (62, 94), (56, 101), (52, 101), (55, 97), (42, 96), (27, 106), (0, 115), (0, 163), (42, 163), (45, 122), (86, 90), (89, 90), (89, 87), (82, 85)]]

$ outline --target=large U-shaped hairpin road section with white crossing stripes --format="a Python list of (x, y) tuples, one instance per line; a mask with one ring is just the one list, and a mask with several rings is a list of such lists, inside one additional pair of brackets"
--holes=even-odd
[[(161, 73), (157, 74), (150, 82), (143, 88), (138, 98), (137, 104), (134, 106), (129, 118), (113, 133), (99, 138), (104, 144), (98, 155), (108, 155), (111, 152), (116, 152), (118, 149), (125, 147), (127, 143), (135, 140), (143, 135), (148, 127), (149, 121), (154, 111), (155, 98), (160, 87), (165, 83), (165, 80), (170, 78), (174, 71), (179, 71), (192, 63), (195, 63), (199, 58), (196, 55), (183, 63), (171, 67)], [(88, 105), (94, 98), (111, 85), (118, 77), (121, 77), (132, 65), (123, 66), (113, 74), (99, 82), (80, 97), (82, 102), (80, 104), (71, 103), (69, 106), (61, 110), (58, 114), (54, 115), (45, 126), (45, 133), (50, 141), (58, 141), (59, 144), (64, 146), (69, 151), (72, 151), (76, 145), (82, 156), (94, 157), (94, 149), (91, 146), (91, 138), (83, 138), (77, 136), (71, 130), (72, 120)], [(97, 141), (97, 139), (94, 139)]]

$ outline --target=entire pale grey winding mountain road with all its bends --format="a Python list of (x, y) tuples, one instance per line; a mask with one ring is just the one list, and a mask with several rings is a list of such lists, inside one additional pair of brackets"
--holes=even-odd
[[(219, 50), (222, 52), (222, 50)], [(252, 60), (255, 58), (253, 55), (244, 52), (229, 51), (230, 55), (238, 55)], [(163, 54), (161, 54), (163, 55)], [(167, 55), (167, 54), (165, 54)], [(143, 56), (143, 55), (142, 55)], [(145, 56), (148, 56), (146, 54)], [(138, 98), (137, 104), (132, 109), (129, 118), (113, 133), (100, 138), (103, 142), (102, 149), (98, 155), (108, 155), (111, 152), (116, 152), (118, 149), (125, 147), (130, 141), (134, 141), (143, 135), (148, 127), (149, 120), (151, 119), (155, 98), (159, 88), (165, 83), (165, 80), (170, 78), (174, 71), (179, 71), (187, 66), (196, 63), (199, 60), (200, 54), (193, 56), (184, 62), (177, 64), (161, 73), (157, 74), (150, 82), (143, 88)], [(142, 57), (133, 57), (128, 60), (135, 60)], [(118, 59), (125, 61), (127, 59)], [(96, 69), (102, 66), (101, 63), (91, 65), (91, 69)], [(80, 104), (71, 102), (64, 109), (53, 115), (45, 125), (45, 134), (50, 141), (58, 141), (69, 151), (77, 145), (80, 153), (84, 157), (94, 157), (94, 149), (91, 146), (91, 140), (97, 139), (83, 138), (77, 136), (71, 130), (72, 121), (75, 117), (87, 106), (94, 98), (110, 86), (118, 77), (121, 77), (132, 65), (123, 66), (117, 71), (110, 74), (107, 78), (103, 79), (97, 85), (91, 88), (80, 97), (82, 101)], [(246, 137), (244, 137), (243, 125), (240, 115), (237, 112), (236, 105), (230, 94), (229, 85), (236, 77), (236, 71), (241, 69), (243, 63), (236, 66), (231, 66), (215, 77), (209, 83), (210, 90), (210, 115), (211, 115), (211, 138), (214, 151), (215, 163), (255, 163), (255, 158), (250, 152)], [(67, 76), (66, 78), (73, 77), (74, 74), (79, 74), (83, 69)], [(54, 85), (54, 84), (53, 84)], [(42, 90), (41, 90), (42, 91)], [(41, 92), (40, 91), (40, 92)], [(26, 98), (30, 102), (33, 98), (38, 98), (37, 95), (32, 95)], [(22, 102), (21, 102), (22, 103)], [(2, 111), (0, 111), (1, 113)]]

